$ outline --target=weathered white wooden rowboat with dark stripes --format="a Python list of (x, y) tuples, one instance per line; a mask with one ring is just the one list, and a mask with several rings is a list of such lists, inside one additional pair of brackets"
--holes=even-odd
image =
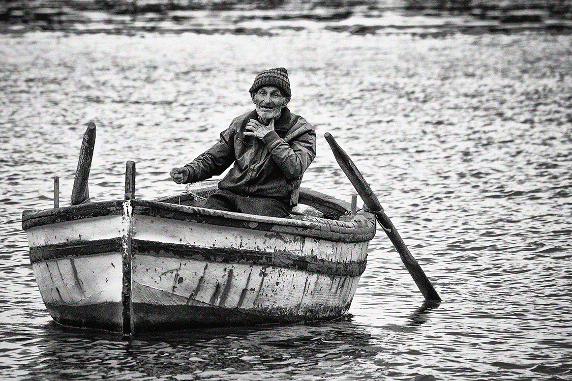
[(126, 189), (125, 200), (23, 212), (52, 318), (130, 336), (335, 319), (348, 311), (374, 215), (353, 215), (350, 204), (304, 188), (299, 202), (323, 217), (201, 208), (216, 191), (205, 185), (140, 200)]

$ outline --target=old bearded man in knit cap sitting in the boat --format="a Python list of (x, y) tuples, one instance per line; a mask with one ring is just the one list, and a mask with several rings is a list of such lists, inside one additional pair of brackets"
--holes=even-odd
[(304, 171), (316, 157), (316, 132), (287, 105), (292, 96), (284, 68), (258, 74), (249, 90), (256, 109), (232, 121), (220, 140), (170, 176), (177, 184), (224, 172), (219, 193), (204, 208), (285, 217), (297, 204)]

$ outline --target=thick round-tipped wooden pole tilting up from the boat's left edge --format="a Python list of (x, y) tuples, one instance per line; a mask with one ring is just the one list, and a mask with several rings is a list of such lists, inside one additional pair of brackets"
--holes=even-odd
[(76, 179), (72, 189), (72, 205), (89, 202), (88, 178), (92, 167), (93, 148), (96, 145), (96, 125), (89, 122), (81, 142), (80, 160), (77, 162)]

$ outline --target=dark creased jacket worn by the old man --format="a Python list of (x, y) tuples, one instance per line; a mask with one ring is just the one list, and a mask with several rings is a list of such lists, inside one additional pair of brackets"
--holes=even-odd
[(245, 136), (247, 122), (257, 118), (256, 110), (235, 118), (217, 144), (185, 165), (189, 168), (187, 182), (219, 175), (234, 163), (219, 182), (220, 189), (296, 205), (302, 175), (316, 157), (316, 132), (303, 117), (285, 107), (275, 121), (275, 130), (262, 140)]

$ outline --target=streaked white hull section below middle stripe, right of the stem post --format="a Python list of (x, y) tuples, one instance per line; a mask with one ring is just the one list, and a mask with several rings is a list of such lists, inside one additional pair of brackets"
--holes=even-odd
[(134, 283), (139, 290), (146, 288), (133, 295), (134, 303), (280, 307), (299, 315), (304, 315), (306, 309), (348, 304), (357, 285), (354, 280), (359, 279), (260, 265), (205, 264), (176, 258), (158, 262), (146, 255), (137, 255), (133, 268)]

